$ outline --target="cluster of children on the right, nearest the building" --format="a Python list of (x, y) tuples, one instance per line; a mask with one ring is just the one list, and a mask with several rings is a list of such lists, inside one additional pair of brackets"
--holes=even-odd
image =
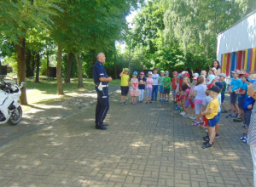
[[(220, 114), (228, 112), (224, 104), (227, 88), (226, 75), (221, 73), (218, 76), (206, 77), (205, 73), (206, 71), (201, 71), (201, 76), (194, 74), (193, 82), (190, 84), (188, 72), (178, 75), (176, 71), (173, 72), (173, 77), (177, 80), (175, 109), (179, 110), (184, 117), (191, 118), (194, 121), (192, 125), (207, 128), (208, 135), (203, 138), (206, 141), (203, 144), (204, 149), (212, 147), (213, 140), (219, 138)], [(254, 72), (250, 75), (247, 72), (232, 71), (233, 79), (229, 88), (231, 114), (226, 117), (236, 117), (234, 122), (244, 122), (243, 127), (247, 128), (246, 133), (241, 137), (244, 143), (247, 143), (248, 127), (255, 102), (252, 95), (247, 94), (247, 87), (256, 81), (255, 75)]]

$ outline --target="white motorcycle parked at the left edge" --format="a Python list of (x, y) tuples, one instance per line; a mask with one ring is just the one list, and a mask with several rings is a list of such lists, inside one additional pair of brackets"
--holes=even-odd
[(21, 82), (19, 87), (13, 78), (0, 76), (0, 124), (17, 125), (20, 122), (20, 90), (25, 86), (26, 82)]

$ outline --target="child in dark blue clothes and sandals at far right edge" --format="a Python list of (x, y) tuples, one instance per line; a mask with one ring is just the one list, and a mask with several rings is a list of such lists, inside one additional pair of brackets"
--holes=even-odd
[[(247, 85), (252, 85), (253, 82), (256, 82), (256, 79), (248, 79), (247, 78)], [(253, 97), (250, 97), (249, 95), (246, 95), (242, 109), (244, 111), (244, 125), (243, 127), (246, 127), (246, 133), (243, 133), (243, 136), (240, 138), (242, 142), (247, 143), (247, 134), (249, 131), (249, 125), (251, 122), (251, 115), (253, 110), (255, 99)]]

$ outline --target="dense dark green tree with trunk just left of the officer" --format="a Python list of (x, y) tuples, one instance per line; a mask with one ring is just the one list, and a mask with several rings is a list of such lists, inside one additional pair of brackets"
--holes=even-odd
[(60, 17), (56, 17), (53, 37), (68, 53), (73, 53), (78, 64), (79, 88), (83, 87), (81, 54), (90, 50), (114, 50), (113, 42), (127, 28), (125, 16), (137, 3), (143, 1), (71, 0), (63, 4)]

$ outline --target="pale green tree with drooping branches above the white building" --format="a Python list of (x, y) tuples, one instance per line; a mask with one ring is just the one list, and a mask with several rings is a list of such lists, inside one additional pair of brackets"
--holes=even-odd
[(217, 35), (253, 11), (253, 0), (170, 0), (164, 23), (166, 42), (180, 42), (184, 53), (216, 56)]

